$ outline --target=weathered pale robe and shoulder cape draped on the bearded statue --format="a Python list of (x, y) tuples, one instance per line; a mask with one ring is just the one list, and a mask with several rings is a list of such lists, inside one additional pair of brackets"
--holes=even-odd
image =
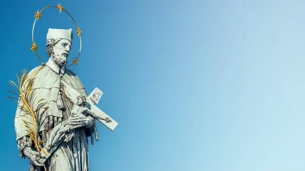
[[(39, 117), (38, 132), (39, 138), (42, 140), (42, 145), (45, 146), (52, 128), (57, 124), (67, 120), (71, 115), (73, 108), (73, 101), (65, 93), (65, 88), (62, 88), (62, 97), (64, 103), (64, 110), (59, 110), (56, 104), (57, 94), (60, 89), (60, 75), (51, 70), (47, 65), (36, 67), (29, 72), (29, 78), (35, 78), (34, 90), (36, 92), (36, 101), (44, 98), (42, 102), (47, 102), (46, 107), (49, 109)], [(78, 91), (81, 95), (87, 97), (85, 88), (78, 77), (66, 69), (62, 77), (62, 81), (69, 84), (72, 88)], [(35, 105), (37, 103), (35, 102)], [(43, 110), (43, 109), (42, 109)], [(24, 121), (29, 121), (28, 118), (21, 116), (23, 112), (17, 108), (15, 116), (15, 132), (16, 140), (19, 149), (19, 155), (25, 158), (22, 150), (26, 146), (32, 146), (33, 142), (28, 138)], [(94, 124), (95, 125), (95, 124)], [(94, 126), (91, 128), (77, 128), (74, 130), (73, 139), (69, 142), (62, 142), (53, 154), (45, 162), (48, 171), (89, 171), (89, 154), (88, 154), (88, 136), (94, 133)], [(43, 167), (30, 165), (29, 170), (44, 170)]]

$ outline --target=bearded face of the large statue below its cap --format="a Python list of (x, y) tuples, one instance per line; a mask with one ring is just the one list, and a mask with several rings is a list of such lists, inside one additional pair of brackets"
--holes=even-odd
[(71, 48), (71, 42), (67, 39), (62, 39), (53, 46), (53, 54), (51, 58), (58, 66), (65, 66), (68, 63), (68, 56)]

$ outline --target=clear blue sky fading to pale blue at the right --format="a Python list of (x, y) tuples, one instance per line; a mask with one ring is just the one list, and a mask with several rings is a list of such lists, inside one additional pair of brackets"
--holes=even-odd
[[(59, 3), (82, 30), (87, 92), (119, 125), (99, 125), (92, 171), (304, 170), (304, 1), (7, 1), (2, 3), (2, 170), (27, 170), (15, 142), (15, 73), (40, 65), (34, 11)], [(72, 3), (73, 2), (73, 3)], [(47, 29), (73, 28), (47, 9)], [(75, 36), (75, 38), (77, 38)], [(72, 57), (77, 55), (73, 42)]]

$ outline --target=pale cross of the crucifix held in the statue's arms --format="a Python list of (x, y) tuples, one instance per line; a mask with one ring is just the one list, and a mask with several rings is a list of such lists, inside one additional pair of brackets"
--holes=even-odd
[[(69, 86), (67, 83), (63, 82), (65, 89), (67, 91), (68, 96), (73, 100), (74, 104), (76, 104), (76, 99), (81, 96), (74, 88)], [(96, 120), (100, 121), (103, 125), (105, 125), (107, 128), (109, 128), (111, 131), (113, 131), (118, 123), (113, 120), (110, 116), (108, 116), (106, 113), (104, 113), (102, 110), (100, 110), (95, 104), (98, 104), (101, 96), (103, 95), (103, 92), (95, 88), (92, 93), (90, 93), (86, 98), (86, 107), (88, 108), (88, 113), (92, 115)], [(60, 127), (62, 125), (58, 125), (57, 127)], [(40, 155), (38, 158), (38, 161), (40, 163), (44, 163), (53, 153), (54, 150), (59, 146), (60, 143), (62, 143), (63, 136), (65, 134), (60, 135), (60, 139), (55, 142), (55, 144), (47, 144), (43, 150), (40, 151)], [(98, 141), (98, 137), (96, 137)]]

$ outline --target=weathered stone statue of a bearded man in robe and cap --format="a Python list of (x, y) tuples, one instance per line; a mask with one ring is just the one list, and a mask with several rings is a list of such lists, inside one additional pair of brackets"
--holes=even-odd
[[(22, 110), (18, 108), (16, 111), (15, 131), (19, 155), (31, 161), (29, 170), (32, 171), (44, 170), (44, 165), (48, 171), (90, 170), (87, 138), (94, 138), (94, 134), (97, 138), (97, 120), (86, 112), (88, 110), (84, 102), (87, 94), (83, 84), (65, 67), (72, 40), (72, 29), (50, 28), (46, 44), (49, 60), (28, 73), (29, 78), (35, 78), (37, 99), (44, 98), (49, 107), (38, 122), (39, 139), (43, 146), (49, 145), (47, 149), (59, 142), (44, 163), (39, 162), (42, 156), (27, 135), (24, 117), (21, 117)], [(77, 99), (71, 99), (71, 94), (75, 94), (73, 91), (81, 95), (79, 104), (74, 102)], [(75, 111), (76, 107), (81, 107), (81, 110)]]

